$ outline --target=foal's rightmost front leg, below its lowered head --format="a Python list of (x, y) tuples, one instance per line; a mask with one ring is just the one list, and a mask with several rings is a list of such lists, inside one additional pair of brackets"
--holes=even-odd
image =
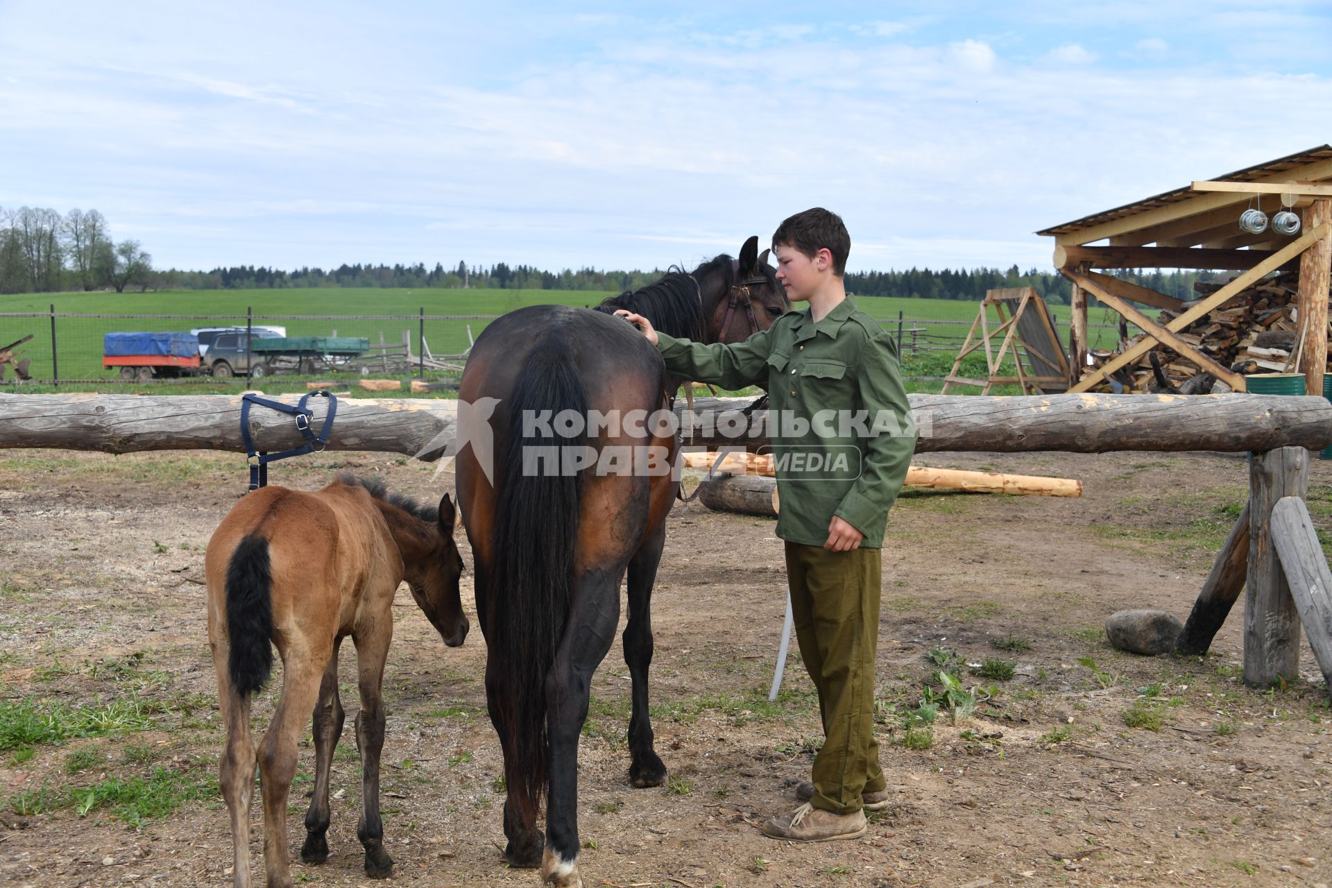
[[(389, 599), (392, 603), (392, 598)], [(358, 628), (356, 642), (357, 683), (361, 711), (356, 715), (356, 748), (361, 751), (361, 823), (356, 837), (365, 845), (365, 875), (388, 879), (393, 859), (384, 851), (384, 821), (380, 819), (380, 751), (384, 748), (384, 662), (393, 640), (393, 615)]]

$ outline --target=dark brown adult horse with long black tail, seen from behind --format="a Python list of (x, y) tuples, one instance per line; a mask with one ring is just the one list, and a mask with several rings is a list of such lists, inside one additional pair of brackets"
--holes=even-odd
[[(678, 442), (673, 429), (635, 423), (633, 414), (669, 407), (674, 383), (657, 350), (610, 313), (631, 309), (678, 337), (742, 341), (790, 309), (766, 256), (750, 238), (738, 261), (719, 256), (690, 274), (671, 272), (594, 312), (513, 312), (486, 328), (462, 374), (461, 399), (498, 399), (494, 453), (464, 447), (456, 477), (489, 646), (490, 719), (503, 747), (505, 857), (539, 863), (555, 885), (582, 884), (578, 735), (591, 674), (614, 640), (626, 571), (629, 776), (637, 787), (666, 779), (647, 715), (649, 599), (678, 487), (670, 473)], [(611, 422), (578, 422), (590, 415)]]

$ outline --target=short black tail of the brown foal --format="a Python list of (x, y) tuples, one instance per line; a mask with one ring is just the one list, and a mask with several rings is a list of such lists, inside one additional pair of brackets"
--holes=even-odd
[(273, 671), (270, 586), (268, 541), (250, 534), (236, 546), (226, 566), (228, 671), (232, 687), (241, 698), (264, 687)]

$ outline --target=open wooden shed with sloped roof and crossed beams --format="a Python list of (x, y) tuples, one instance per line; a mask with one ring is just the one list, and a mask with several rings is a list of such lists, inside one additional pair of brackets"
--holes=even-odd
[[(1300, 228), (1281, 234), (1265, 225), (1240, 228), (1240, 216), (1256, 209), (1265, 218), (1281, 210), (1299, 214)], [(1288, 221), (1288, 217), (1287, 217)], [(1256, 225), (1251, 226), (1256, 228)], [(1244, 391), (1244, 377), (1221, 366), (1180, 333), (1217, 312), (1245, 288), (1276, 270), (1299, 272), (1297, 370), (1308, 394), (1323, 394), (1327, 367), (1328, 289), (1332, 270), (1332, 145), (1280, 157), (1211, 180), (1199, 180), (1124, 206), (1092, 213), (1038, 234), (1055, 238), (1055, 268), (1074, 284), (1070, 393), (1088, 391), (1164, 347)], [(1197, 302), (1131, 284), (1098, 269), (1176, 268), (1240, 272)], [(1118, 312), (1144, 335), (1099, 366), (1088, 366), (1087, 297)], [(1164, 309), (1158, 322), (1138, 306)]]

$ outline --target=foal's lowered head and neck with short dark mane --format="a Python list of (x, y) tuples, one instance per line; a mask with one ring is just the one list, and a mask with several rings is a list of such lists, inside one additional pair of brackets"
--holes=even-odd
[(468, 636), (468, 618), (458, 594), (462, 555), (453, 542), (457, 513), (449, 494), (440, 499), (438, 507), (424, 506), (402, 494), (389, 494), (378, 478), (344, 474), (340, 481), (365, 487), (378, 502), (402, 555), (404, 579), (417, 607), (445, 644), (462, 644)]

